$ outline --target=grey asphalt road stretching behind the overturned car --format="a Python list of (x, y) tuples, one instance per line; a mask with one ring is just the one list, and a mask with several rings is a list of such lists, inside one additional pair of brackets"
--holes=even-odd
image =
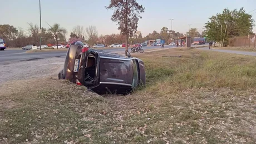
[[(168, 45), (164, 46), (164, 48), (171, 48), (171, 47), (176, 47), (176, 46), (168, 46)], [(142, 49), (152, 49), (152, 48), (161, 48), (161, 46), (142, 47)], [(104, 51), (118, 52), (118, 51), (124, 51), (124, 48), (111, 48), (111, 49), (108, 48), (108, 49), (105, 49)], [(129, 48), (129, 51), (130, 51), (130, 48)], [(0, 51), (0, 64), (12, 63), (17, 61), (26, 61), (26, 60), (32, 60), (32, 59), (63, 57), (63, 56), (66, 56), (66, 51), (26, 53), (26, 51), (21, 49), (15, 49), (15, 50), (6, 49), (5, 51)]]

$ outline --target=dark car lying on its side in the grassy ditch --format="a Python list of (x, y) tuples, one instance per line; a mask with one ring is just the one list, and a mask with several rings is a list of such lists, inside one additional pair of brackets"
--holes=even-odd
[(146, 77), (141, 59), (83, 47), (78, 41), (68, 48), (58, 79), (86, 86), (100, 95), (126, 95), (144, 86)]

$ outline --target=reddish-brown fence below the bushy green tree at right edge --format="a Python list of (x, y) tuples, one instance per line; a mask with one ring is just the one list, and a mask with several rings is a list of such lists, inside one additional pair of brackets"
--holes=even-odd
[(229, 47), (256, 48), (256, 35), (229, 38)]

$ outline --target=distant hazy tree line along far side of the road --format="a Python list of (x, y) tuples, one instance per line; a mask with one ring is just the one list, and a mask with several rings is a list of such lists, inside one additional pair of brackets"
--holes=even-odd
[[(125, 43), (125, 36), (122, 34), (106, 34), (99, 35), (97, 28), (95, 26), (88, 26), (84, 28), (83, 26), (73, 27), (68, 39), (66, 39), (67, 30), (60, 27), (60, 24), (56, 23), (53, 26), (49, 25), (49, 28), (43, 28), (41, 30), (41, 44), (56, 44), (58, 40), (59, 44), (71, 43), (75, 39), (89, 43), (91, 46), (93, 44), (101, 43), (106, 46), (112, 43)], [(201, 36), (195, 28), (191, 28), (187, 34), (190, 36)], [(142, 43), (147, 40), (155, 39), (165, 39), (165, 43), (168, 44), (173, 42), (174, 39), (178, 37), (186, 36), (186, 34), (169, 31), (167, 27), (160, 29), (160, 32), (152, 31), (152, 33), (147, 34), (147, 36), (142, 37), (142, 33), (134, 34), (129, 37), (128, 40), (134, 43)], [(35, 44), (39, 46), (40, 44), (40, 27), (37, 24), (28, 23), (28, 28), (23, 29), (21, 27), (14, 27), (9, 24), (0, 25), (0, 37), (4, 38), (8, 47), (23, 47), (27, 44)], [(128, 42), (129, 43), (129, 42)]]

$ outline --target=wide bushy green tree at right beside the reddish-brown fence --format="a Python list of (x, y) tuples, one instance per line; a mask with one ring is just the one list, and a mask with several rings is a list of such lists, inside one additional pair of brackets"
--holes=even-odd
[(225, 8), (221, 14), (217, 13), (209, 19), (204, 26), (205, 34), (209, 39), (221, 42), (221, 46), (228, 44), (228, 38), (251, 34), (254, 26), (252, 15), (246, 13), (243, 7), (239, 11)]

